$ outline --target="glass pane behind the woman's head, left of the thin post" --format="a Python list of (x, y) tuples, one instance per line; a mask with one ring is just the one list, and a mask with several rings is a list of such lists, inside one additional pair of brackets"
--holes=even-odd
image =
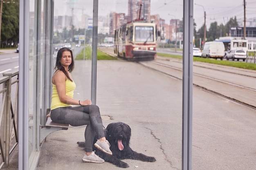
[[(75, 63), (72, 78), (76, 89), (81, 90), (74, 93), (74, 99), (91, 98), (92, 2), (54, 0), (54, 59), (61, 47), (72, 50)], [(81, 75), (85, 82), (80, 81)]]

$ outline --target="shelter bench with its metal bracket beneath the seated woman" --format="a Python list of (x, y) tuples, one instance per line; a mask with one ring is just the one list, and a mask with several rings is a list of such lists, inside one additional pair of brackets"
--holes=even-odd
[[(51, 109), (47, 108), (46, 115), (48, 115), (50, 111)], [(42, 144), (43, 140), (45, 140), (46, 137), (52, 132), (55, 132), (57, 130), (67, 130), (69, 126), (69, 124), (60, 124), (53, 122), (51, 117), (48, 117), (45, 126), (41, 126), (40, 129), (40, 144)]]

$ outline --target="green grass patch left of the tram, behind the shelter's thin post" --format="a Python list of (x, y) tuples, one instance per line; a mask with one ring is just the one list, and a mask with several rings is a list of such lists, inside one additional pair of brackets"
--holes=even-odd
[[(84, 50), (85, 50), (85, 53), (84, 53)], [(78, 55), (76, 55), (75, 60), (83, 60), (83, 58), (85, 58), (85, 60), (92, 60), (92, 48), (91, 47), (85, 47), (85, 49), (83, 49)], [(112, 57), (110, 55), (107, 55), (107, 54), (102, 53), (101, 51), (97, 50), (97, 60), (117, 60), (117, 58)]]

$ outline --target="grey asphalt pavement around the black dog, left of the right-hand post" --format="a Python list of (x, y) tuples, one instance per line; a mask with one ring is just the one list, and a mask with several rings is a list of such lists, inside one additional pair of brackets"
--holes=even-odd
[[(85, 61), (75, 62), (72, 72), (76, 82), (75, 99), (90, 96), (90, 70), (90, 64)], [(97, 105), (103, 126), (119, 121), (128, 124), (132, 130), (130, 147), (157, 160), (151, 163), (126, 159), (124, 162), (130, 166), (127, 170), (181, 169), (181, 87), (182, 82), (170, 81), (165, 75), (136, 62), (97, 61)], [(68, 130), (48, 135), (36, 170), (119, 170), (119, 167), (108, 162), (82, 161), (84, 151), (76, 142), (85, 140), (85, 127), (70, 126)], [(10, 155), (9, 168), (3, 170), (18, 170), (18, 147), (15, 150)]]

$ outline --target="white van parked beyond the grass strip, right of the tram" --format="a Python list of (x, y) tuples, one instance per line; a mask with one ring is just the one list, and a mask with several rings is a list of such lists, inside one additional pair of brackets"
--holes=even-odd
[(202, 50), (202, 57), (206, 58), (220, 58), (223, 60), (225, 54), (225, 46), (223, 42), (210, 41), (204, 44), (204, 49)]

